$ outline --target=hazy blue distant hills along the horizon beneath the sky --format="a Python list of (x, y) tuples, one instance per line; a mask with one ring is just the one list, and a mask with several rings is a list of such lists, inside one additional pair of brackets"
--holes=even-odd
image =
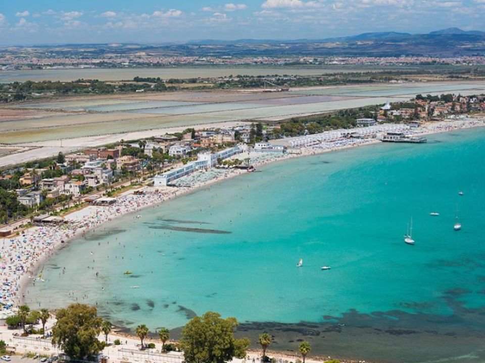
[[(52, 47), (52, 45), (51, 45)], [(186, 56), (463, 56), (485, 55), (485, 32), (448, 28), (427, 34), (375, 32), (324, 39), (194, 40), (164, 44), (58, 45), (83, 54), (139, 51), (154, 55)], [(64, 50), (63, 50), (64, 51)], [(66, 52), (68, 49), (65, 50)]]

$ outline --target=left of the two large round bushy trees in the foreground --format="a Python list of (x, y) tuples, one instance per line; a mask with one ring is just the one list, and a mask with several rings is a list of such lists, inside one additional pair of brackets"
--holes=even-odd
[(98, 354), (105, 346), (98, 340), (103, 319), (96, 308), (84, 304), (71, 304), (56, 315), (52, 328), (52, 343), (60, 347), (71, 359), (84, 359)]

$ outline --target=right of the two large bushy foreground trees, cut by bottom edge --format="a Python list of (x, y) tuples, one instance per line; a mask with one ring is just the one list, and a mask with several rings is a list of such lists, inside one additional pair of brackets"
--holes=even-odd
[(190, 320), (180, 339), (185, 363), (223, 363), (246, 356), (249, 340), (234, 338), (237, 325), (235, 318), (222, 319), (214, 312)]

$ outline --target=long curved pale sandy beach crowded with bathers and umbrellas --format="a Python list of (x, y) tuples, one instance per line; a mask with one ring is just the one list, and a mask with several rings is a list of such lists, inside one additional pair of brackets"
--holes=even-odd
[[(485, 126), (485, 118), (463, 118), (445, 120), (438, 123), (428, 123), (419, 129), (409, 129), (413, 136), (429, 135), (433, 133), (450, 132), (465, 128)], [(251, 164), (256, 167), (285, 160), (293, 157), (314, 155), (317, 153), (343, 150), (363, 145), (379, 143), (376, 139), (350, 139), (346, 142), (322, 143), (312, 147), (302, 147), (285, 154), (243, 153), (235, 158), (251, 158)], [(197, 189), (207, 187), (213, 183), (246, 173), (240, 169), (212, 169), (200, 171), (177, 180), (179, 187), (145, 187), (144, 193), (134, 195), (133, 190), (124, 192), (117, 197), (117, 202), (111, 206), (87, 206), (65, 216), (66, 223), (52, 226), (35, 226), (24, 230), (21, 234), (10, 238), (0, 239), (0, 279), (2, 293), (0, 302), (3, 307), (0, 317), (13, 314), (22, 303), (24, 289), (30, 280), (35, 283), (41, 280), (42, 266), (56, 251), (65, 246), (75, 237), (82, 236), (88, 230), (100, 227), (112, 219), (133, 214), (136, 211), (154, 207), (164, 201), (176, 198)]]

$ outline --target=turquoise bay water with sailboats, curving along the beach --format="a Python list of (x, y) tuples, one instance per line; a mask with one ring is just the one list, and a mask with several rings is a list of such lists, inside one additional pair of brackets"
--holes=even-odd
[(217, 311), (325, 356), (484, 361), (484, 207), (485, 129), (291, 159), (75, 240), (26, 299), (152, 331)]

